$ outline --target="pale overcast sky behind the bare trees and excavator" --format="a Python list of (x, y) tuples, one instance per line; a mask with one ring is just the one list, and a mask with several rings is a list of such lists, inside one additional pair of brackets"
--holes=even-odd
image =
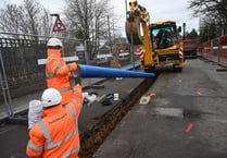
[[(60, 17), (63, 14), (65, 5), (64, 0), (37, 0), (40, 4), (48, 8), (51, 13), (59, 13)], [(130, 0), (127, 0), (127, 4)], [(23, 0), (0, 0), (0, 8), (4, 7), (4, 3), (22, 3)], [(125, 34), (125, 7), (126, 0), (110, 0), (110, 5), (114, 8), (113, 12), (116, 16), (115, 26), (117, 31)], [(186, 32), (191, 32), (194, 28), (199, 32), (199, 19), (192, 17), (192, 11), (187, 9), (188, 0), (138, 0), (138, 3), (147, 9), (150, 14), (151, 23), (157, 21), (176, 21), (178, 26), (182, 26), (186, 23)], [(127, 5), (129, 10), (129, 5)], [(125, 36), (125, 35), (123, 35)]]

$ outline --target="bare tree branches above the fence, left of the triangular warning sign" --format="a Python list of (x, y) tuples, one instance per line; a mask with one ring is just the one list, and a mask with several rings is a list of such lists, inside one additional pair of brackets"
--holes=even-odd
[(36, 0), (24, 0), (21, 5), (8, 3), (4, 9), (0, 9), (2, 32), (50, 35), (49, 23), (49, 11)]

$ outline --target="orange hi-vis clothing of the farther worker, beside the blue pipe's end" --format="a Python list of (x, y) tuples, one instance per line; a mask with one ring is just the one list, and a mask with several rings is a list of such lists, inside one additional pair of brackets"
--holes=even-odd
[(72, 96), (71, 71), (75, 71), (77, 64), (66, 64), (61, 58), (61, 50), (48, 49), (46, 77), (48, 88), (55, 88), (62, 95), (62, 105), (67, 104)]

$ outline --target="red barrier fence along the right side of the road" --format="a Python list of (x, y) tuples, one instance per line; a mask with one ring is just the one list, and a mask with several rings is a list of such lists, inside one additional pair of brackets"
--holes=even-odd
[(227, 66), (227, 35), (200, 44), (198, 54)]

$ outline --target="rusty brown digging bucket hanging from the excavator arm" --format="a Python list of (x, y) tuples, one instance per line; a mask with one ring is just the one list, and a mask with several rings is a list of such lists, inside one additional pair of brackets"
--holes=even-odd
[[(134, 19), (128, 17), (125, 25), (126, 36), (130, 44), (133, 45), (142, 45), (142, 38), (140, 35), (140, 19), (134, 16)], [(133, 41), (131, 41), (133, 35)]]

